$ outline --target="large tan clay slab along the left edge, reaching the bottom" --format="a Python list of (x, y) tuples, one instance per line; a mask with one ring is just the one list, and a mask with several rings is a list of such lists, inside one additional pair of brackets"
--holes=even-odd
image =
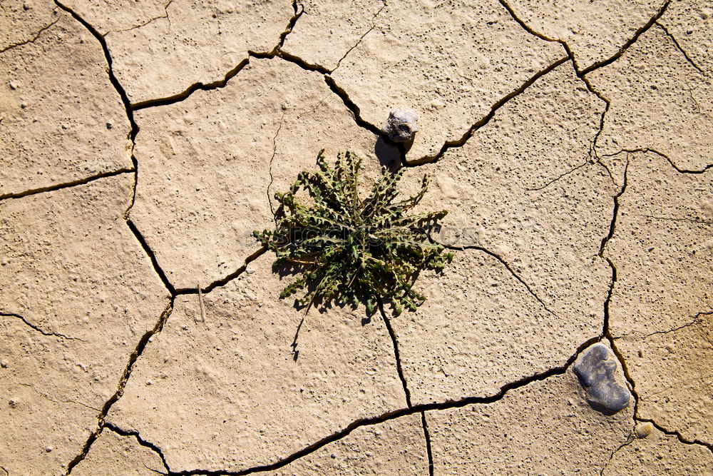
[(133, 176), (0, 202), (0, 448), (11, 474), (81, 451), (167, 292), (123, 220)]

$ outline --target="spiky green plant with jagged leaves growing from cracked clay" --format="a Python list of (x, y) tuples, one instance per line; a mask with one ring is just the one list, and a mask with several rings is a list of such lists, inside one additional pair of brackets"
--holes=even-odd
[[(361, 160), (354, 154), (340, 152), (330, 168), (320, 151), (317, 165), (320, 171), (299, 173), (287, 193), (275, 194), (280, 203), (275, 231), (253, 232), (275, 252), (273, 265), (292, 265), (302, 273), (280, 298), (307, 288), (297, 302), (308, 309), (317, 298), (353, 308), (364, 300), (371, 315), (383, 298), (396, 314), (403, 308), (416, 310), (426, 299), (413, 289), (418, 273), (441, 270), (453, 258), (442, 245), (431, 243), (427, 233), (446, 211), (406, 214), (423, 198), (428, 178), (424, 176), (419, 193), (396, 201), (403, 170), (384, 169), (362, 200)], [(306, 203), (298, 201), (301, 190), (309, 195)]]

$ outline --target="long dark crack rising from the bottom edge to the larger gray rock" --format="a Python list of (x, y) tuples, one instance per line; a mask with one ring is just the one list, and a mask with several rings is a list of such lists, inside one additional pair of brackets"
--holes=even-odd
[(352, 422), (350, 425), (348, 425), (347, 427), (345, 427), (344, 429), (339, 430), (338, 432), (335, 432), (332, 435), (329, 435), (328, 437), (324, 437), (322, 440), (319, 440), (318, 442), (314, 442), (312, 445), (309, 445), (308, 447), (305, 447), (302, 450), (299, 450), (298, 452), (295, 452), (292, 455), (289, 455), (288, 457), (285, 457), (282, 460), (279, 460), (274, 463), (270, 463), (268, 465), (251, 467), (251, 468), (248, 468), (246, 470), (241, 470), (241, 471), (188, 470), (188, 471), (180, 471), (180, 472), (170, 472), (169, 474), (172, 476), (198, 476), (198, 475), (241, 476), (241, 475), (255, 474), (258, 472), (267, 472), (267, 471), (278, 470), (281, 467), (289, 465), (289, 463), (294, 462), (295, 460), (299, 460), (299, 458), (302, 458), (302, 457), (312, 454), (313, 452), (319, 450), (320, 448), (322, 448), (326, 445), (329, 445), (329, 443), (332, 443), (332, 442), (335, 442), (338, 440), (342, 440), (342, 438), (349, 435), (352, 431), (356, 430), (356, 428), (360, 428), (360, 427), (364, 427), (364, 426), (371, 426), (371, 425), (378, 425), (379, 423), (383, 423), (383, 422), (386, 422), (389, 420), (394, 420), (396, 418), (404, 417), (406, 415), (415, 415), (416, 413), (422, 413), (422, 412), (428, 412), (428, 411), (434, 411), (434, 410), (451, 410), (453, 408), (461, 408), (461, 407), (466, 407), (468, 405), (488, 405), (490, 403), (498, 402), (499, 400), (502, 400), (503, 397), (505, 397), (505, 395), (508, 392), (510, 392), (511, 390), (518, 390), (519, 388), (523, 388), (527, 385), (530, 385), (531, 383), (546, 380), (546, 379), (548, 379), (550, 377), (554, 377), (556, 375), (563, 375), (568, 370), (570, 365), (572, 365), (574, 363), (574, 361), (577, 359), (578, 355), (585, 348), (588, 348), (590, 345), (597, 342), (598, 340), (600, 340), (600, 338), (597, 336), (595, 338), (587, 340), (585, 343), (580, 345), (578, 347), (577, 351), (573, 355), (571, 355), (570, 358), (568, 358), (567, 362), (563, 366), (552, 368), (550, 370), (546, 370), (545, 372), (530, 375), (529, 377), (521, 378), (519, 380), (516, 380), (515, 382), (503, 385), (501, 387), (501, 390), (498, 393), (496, 393), (495, 395), (491, 395), (488, 397), (464, 397), (464, 398), (461, 398), (460, 400), (446, 400), (444, 402), (431, 402), (431, 403), (413, 405), (411, 407), (406, 407), (406, 408), (401, 408), (399, 410), (386, 412), (386, 413), (376, 416), (376, 417), (369, 417), (369, 418), (364, 418), (361, 420), (356, 420), (356, 421)]

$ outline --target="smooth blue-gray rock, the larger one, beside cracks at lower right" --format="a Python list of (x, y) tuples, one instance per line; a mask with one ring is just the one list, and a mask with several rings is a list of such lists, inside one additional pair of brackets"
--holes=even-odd
[(606, 345), (586, 348), (575, 361), (574, 371), (590, 405), (612, 415), (629, 406), (631, 393), (624, 383), (619, 361)]

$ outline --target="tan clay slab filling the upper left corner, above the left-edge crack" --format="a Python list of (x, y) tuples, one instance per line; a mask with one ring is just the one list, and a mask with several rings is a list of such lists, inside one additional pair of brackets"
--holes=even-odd
[(69, 14), (0, 65), (0, 198), (133, 167), (101, 45)]

